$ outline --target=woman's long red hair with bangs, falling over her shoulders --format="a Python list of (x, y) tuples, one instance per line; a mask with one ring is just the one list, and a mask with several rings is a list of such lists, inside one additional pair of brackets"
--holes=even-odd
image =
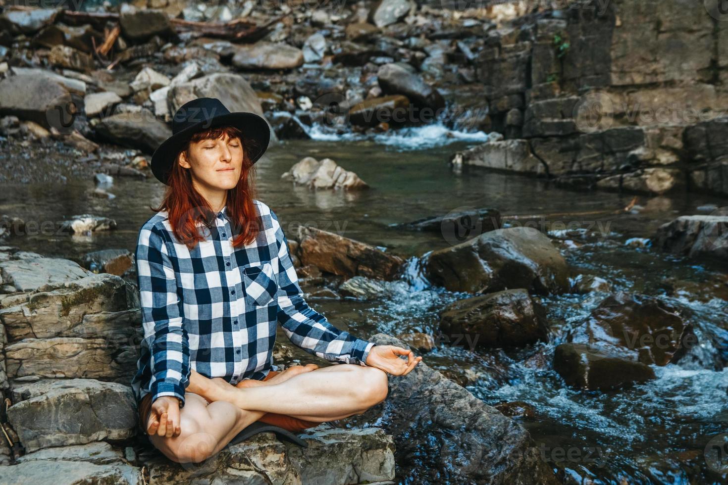
[[(258, 211), (253, 203), (256, 193), (251, 180), (255, 175), (255, 169), (248, 157), (254, 142), (245, 140), (240, 129), (218, 127), (192, 135), (180, 153), (184, 151), (189, 159), (191, 143), (209, 139), (216, 140), (223, 134), (230, 138), (238, 138), (243, 148), (240, 180), (234, 188), (228, 190), (226, 201), (226, 213), (231, 220), (234, 235), (232, 245), (240, 246), (253, 242), (260, 231)], [(192, 249), (198, 241), (206, 239), (203, 234), (199, 233), (198, 223), (202, 223), (207, 228), (213, 228), (216, 214), (207, 200), (194, 189), (189, 169), (181, 167), (178, 161), (179, 154), (167, 179), (167, 190), (162, 203), (159, 204), (159, 207), (149, 207), (149, 209), (154, 212), (166, 209), (175, 237)]]

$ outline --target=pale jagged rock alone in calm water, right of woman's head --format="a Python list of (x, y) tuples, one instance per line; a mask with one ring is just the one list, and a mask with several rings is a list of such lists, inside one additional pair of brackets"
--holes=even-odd
[(332, 159), (317, 161), (306, 156), (281, 175), (282, 180), (291, 180), (312, 189), (342, 189), (347, 191), (369, 188), (354, 172), (349, 172)]

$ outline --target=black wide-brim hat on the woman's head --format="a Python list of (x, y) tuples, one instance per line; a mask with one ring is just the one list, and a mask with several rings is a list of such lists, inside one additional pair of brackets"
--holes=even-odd
[[(172, 136), (162, 142), (151, 156), (151, 172), (159, 182), (167, 184), (170, 170), (185, 148), (191, 135), (211, 128), (232, 126), (242, 132), (243, 145), (252, 147), (248, 157), (252, 163), (258, 161), (268, 148), (271, 132), (266, 120), (256, 113), (228, 108), (215, 97), (198, 97), (179, 107), (172, 118)], [(253, 141), (254, 143), (249, 143)]]

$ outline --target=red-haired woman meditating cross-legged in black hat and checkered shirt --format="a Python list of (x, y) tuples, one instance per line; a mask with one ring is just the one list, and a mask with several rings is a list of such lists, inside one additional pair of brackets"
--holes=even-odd
[[(269, 135), (260, 116), (203, 97), (175, 113), (152, 156), (167, 191), (139, 232), (144, 340), (132, 388), (143, 432), (175, 462), (206, 460), (257, 420), (298, 432), (362, 414), (387, 397), (387, 374), (422, 359), (342, 332), (306, 305), (277, 216), (253, 199)], [(341, 365), (278, 372), (277, 324)]]

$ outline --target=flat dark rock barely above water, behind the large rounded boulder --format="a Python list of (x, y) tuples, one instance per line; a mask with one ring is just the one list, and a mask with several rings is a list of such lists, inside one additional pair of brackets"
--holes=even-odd
[(410, 223), (397, 224), (395, 227), (416, 231), (440, 232), (446, 241), (458, 241), (467, 236), (499, 229), (501, 217), (498, 209), (472, 209), (449, 213), (438, 217), (423, 217)]

